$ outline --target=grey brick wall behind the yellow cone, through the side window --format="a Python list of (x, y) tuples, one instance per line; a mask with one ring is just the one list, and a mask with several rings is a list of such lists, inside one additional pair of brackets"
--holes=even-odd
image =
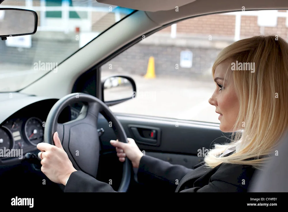
[[(180, 52), (191, 50), (193, 52), (193, 65), (191, 68), (180, 66)], [(155, 61), (156, 76), (181, 76), (211, 78), (211, 66), (219, 53), (214, 48), (184, 48), (177, 46), (150, 46), (137, 44), (118, 55), (102, 66), (102, 71), (115, 70), (115, 73), (144, 75), (147, 72), (149, 57)], [(111, 65), (112, 66), (111, 66)], [(177, 69), (178, 67), (178, 69)]]

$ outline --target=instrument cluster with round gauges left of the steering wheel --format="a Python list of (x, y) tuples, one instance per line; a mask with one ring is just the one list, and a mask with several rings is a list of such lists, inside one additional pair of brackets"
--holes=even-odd
[(38, 143), (43, 142), (44, 127), (45, 122), (37, 117), (6, 121), (0, 126), (0, 150), (35, 149)]

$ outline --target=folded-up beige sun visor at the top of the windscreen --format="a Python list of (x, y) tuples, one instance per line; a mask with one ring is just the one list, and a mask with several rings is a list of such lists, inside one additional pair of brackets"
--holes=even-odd
[(156, 12), (162, 10), (173, 10), (196, 0), (97, 0), (98, 3), (126, 7), (133, 10)]

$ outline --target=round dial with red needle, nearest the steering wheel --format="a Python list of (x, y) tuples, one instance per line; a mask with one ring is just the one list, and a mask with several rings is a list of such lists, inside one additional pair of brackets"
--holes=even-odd
[(27, 140), (34, 146), (43, 142), (44, 127), (42, 121), (36, 117), (31, 117), (25, 123), (25, 135)]

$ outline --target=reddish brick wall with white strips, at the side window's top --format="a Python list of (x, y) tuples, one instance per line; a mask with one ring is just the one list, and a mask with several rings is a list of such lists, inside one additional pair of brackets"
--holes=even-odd
[[(278, 10), (285, 12), (286, 10)], [(288, 28), (285, 25), (286, 18), (278, 17), (276, 27), (263, 27), (257, 24), (257, 16), (241, 16), (240, 38), (263, 34), (277, 34), (285, 39), (288, 38)], [(171, 27), (162, 29), (158, 33), (170, 33)], [(190, 18), (177, 23), (177, 36), (196, 36), (208, 39), (209, 35), (216, 39), (234, 38), (235, 16), (213, 14)]]

